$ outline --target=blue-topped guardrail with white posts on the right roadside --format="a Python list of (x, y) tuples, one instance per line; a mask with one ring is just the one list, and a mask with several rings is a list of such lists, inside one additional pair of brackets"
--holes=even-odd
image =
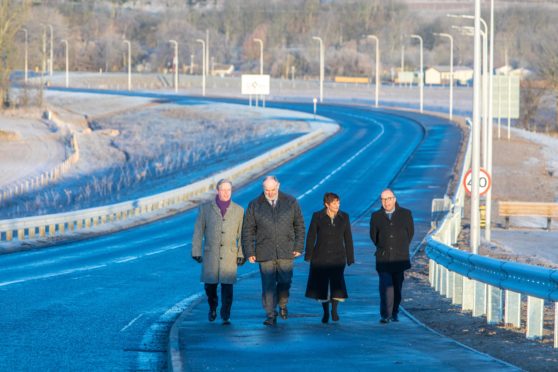
[[(470, 165), (471, 138), (463, 171)], [(426, 240), (429, 281), (441, 295), (471, 311), (486, 316), (489, 324), (511, 324), (521, 328), (522, 297), (527, 297), (526, 336), (543, 337), (544, 302), (554, 303), (554, 347), (558, 347), (558, 270), (497, 260), (456, 249), (461, 230), (464, 188), (461, 182), (453, 200), (435, 199), (433, 217), (443, 218)]]

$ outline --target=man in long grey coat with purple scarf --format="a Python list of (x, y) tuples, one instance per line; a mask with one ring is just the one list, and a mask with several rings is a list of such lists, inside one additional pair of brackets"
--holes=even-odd
[(215, 199), (199, 208), (192, 238), (192, 258), (203, 264), (201, 281), (205, 283), (209, 321), (217, 318), (217, 285), (221, 283), (223, 324), (230, 323), (236, 271), (245, 262), (241, 246), (244, 209), (234, 203), (231, 196), (231, 181), (220, 180)]

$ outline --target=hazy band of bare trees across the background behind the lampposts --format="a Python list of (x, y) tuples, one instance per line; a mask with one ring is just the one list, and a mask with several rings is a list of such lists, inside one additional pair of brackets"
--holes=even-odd
[[(316, 77), (319, 74), (319, 36), (325, 46), (326, 77), (373, 77), (374, 44), (380, 40), (382, 74), (388, 76), (401, 64), (404, 47), (406, 69), (417, 69), (419, 47), (409, 35), (424, 39), (426, 66), (448, 65), (449, 45), (434, 33), (454, 35), (454, 64), (473, 63), (473, 40), (452, 29), (471, 21), (445, 14), (419, 17), (406, 3), (381, 0), (160, 0), (142, 8), (141, 1), (10, 1), (0, 0), (0, 78), (22, 70), (24, 32), (28, 31), (30, 69), (41, 70), (43, 40), (50, 43), (53, 28), (54, 68), (64, 68), (62, 39), (68, 40), (70, 68), (77, 71), (125, 71), (127, 49), (132, 45), (136, 70), (160, 72), (172, 66), (169, 40), (179, 43), (182, 71), (200, 73), (202, 52), (196, 39), (209, 41), (209, 56), (217, 64), (232, 64), (236, 71), (259, 71), (259, 44), (264, 43), (264, 71), (273, 77)], [(488, 20), (488, 9), (483, 17)], [(558, 34), (556, 8), (540, 5), (498, 9), (495, 14), (495, 66), (506, 61), (527, 67), (558, 88)], [(50, 47), (50, 45), (48, 45)], [(48, 49), (48, 48), (47, 48)], [(46, 56), (48, 58), (48, 56)], [(209, 62), (211, 63), (211, 62)], [(0, 82), (1, 83), (1, 82)], [(4, 86), (2, 85), (2, 86)], [(1, 88), (5, 89), (5, 88)], [(4, 90), (3, 90), (4, 91)], [(5, 94), (3, 93), (2, 96)]]

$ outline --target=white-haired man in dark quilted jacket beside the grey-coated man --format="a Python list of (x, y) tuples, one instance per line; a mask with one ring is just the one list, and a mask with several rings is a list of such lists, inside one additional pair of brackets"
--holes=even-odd
[(242, 249), (250, 263), (260, 264), (265, 325), (287, 319), (287, 302), (293, 276), (293, 261), (304, 249), (304, 219), (298, 201), (279, 192), (279, 181), (267, 176), (263, 193), (246, 209), (242, 225)]

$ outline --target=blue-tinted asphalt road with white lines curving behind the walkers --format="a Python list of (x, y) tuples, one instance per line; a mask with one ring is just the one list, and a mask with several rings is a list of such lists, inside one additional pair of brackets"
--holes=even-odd
[[(321, 207), (326, 191), (341, 195), (342, 209), (353, 219), (366, 219), (380, 191), (406, 169), (411, 176), (398, 183), (398, 195), (415, 211), (417, 237), (424, 236), (430, 201), (444, 194), (451, 176), (460, 131), (439, 118), (367, 108), (323, 105), (318, 113), (342, 130), (273, 172), (281, 189), (299, 198), (305, 220)], [(246, 206), (260, 191), (257, 180), (233, 198)], [(202, 288), (199, 266), (189, 257), (195, 214), (0, 256), (2, 369), (165, 368), (169, 327), (186, 306), (183, 300)], [(370, 249), (364, 240), (359, 244), (357, 249)]]

